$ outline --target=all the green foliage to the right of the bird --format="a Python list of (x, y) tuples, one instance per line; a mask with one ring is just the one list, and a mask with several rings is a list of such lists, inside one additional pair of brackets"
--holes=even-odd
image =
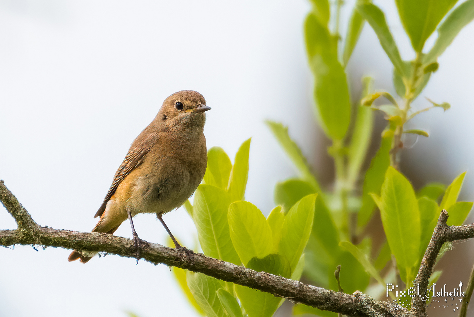
[[(332, 142), (328, 153), (334, 159), (334, 186), (321, 187), (288, 128), (267, 121), (298, 177), (276, 184), (276, 207), (265, 218), (245, 201), (250, 140), (238, 149), (234, 164), (224, 150), (210, 149), (203, 184), (196, 190), (193, 204), (184, 204), (204, 254), (294, 280), (303, 274), (310, 283), (336, 291), (334, 270), (341, 265), (339, 278), (346, 293), (364, 292), (370, 286), (380, 290), (372, 295), (382, 298), (385, 283), (395, 279), (403, 282), (405, 291), (412, 289), (440, 211), (447, 210), (449, 225), (460, 225), (473, 206), (472, 202), (457, 201), (465, 173), (449, 186), (429, 183), (415, 192), (398, 170), (402, 135), (428, 137), (422, 129), (406, 130), (405, 124), (430, 109), (450, 108), (449, 103), (428, 98), (424, 109), (415, 111), (411, 104), (438, 70), (438, 57), (474, 18), (474, 0), (458, 6), (456, 2), (395, 0), (415, 54), (414, 60), (404, 61), (383, 11), (370, 0), (356, 1), (344, 36), (339, 33), (343, 1), (311, 0), (304, 38), (314, 76), (315, 118)], [(392, 62), (398, 96), (374, 91), (373, 80), (365, 77), (362, 95), (351, 103), (345, 68), (365, 21)], [(425, 54), (425, 42), (435, 30), (438, 38)], [(340, 43), (344, 45), (341, 49)], [(378, 151), (367, 157), (373, 141), (374, 111), (383, 113), (386, 128)], [(367, 169), (365, 161), (370, 161)], [(367, 224), (376, 212), (380, 212), (385, 237), (374, 246)], [(447, 243), (438, 260), (449, 250)], [(284, 300), (202, 274), (180, 269), (173, 272), (191, 304), (209, 317), (270, 317)], [(430, 283), (440, 275), (441, 271), (433, 272)], [(373, 288), (377, 284), (381, 287)], [(294, 306), (293, 314), (337, 315), (304, 305)]]

